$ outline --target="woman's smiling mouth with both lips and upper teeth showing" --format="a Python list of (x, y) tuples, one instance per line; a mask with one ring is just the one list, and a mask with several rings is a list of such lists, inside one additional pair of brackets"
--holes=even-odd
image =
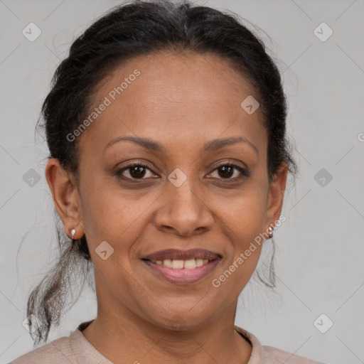
[(189, 284), (207, 277), (222, 256), (208, 250), (161, 250), (142, 258), (157, 277), (174, 284)]

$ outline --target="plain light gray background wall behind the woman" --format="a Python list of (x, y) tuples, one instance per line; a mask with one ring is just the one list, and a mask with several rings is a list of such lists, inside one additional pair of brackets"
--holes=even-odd
[[(75, 36), (117, 4), (0, 0), (3, 363), (32, 348), (22, 326), (26, 299), (55, 257), (53, 201), (44, 177), (47, 149), (34, 138), (41, 103)], [(284, 201), (287, 221), (274, 232), (277, 294), (252, 279), (241, 295), (236, 323), (265, 345), (325, 363), (364, 363), (363, 1), (200, 4), (235, 11), (262, 29), (258, 35), (283, 73), (288, 132), (301, 169)], [(31, 22), (42, 31), (33, 42), (22, 34)], [(333, 30), (326, 41), (314, 34), (322, 22)], [(41, 177), (33, 186), (26, 179), (31, 168)], [(325, 186), (317, 176), (321, 168)], [(94, 318), (95, 303), (86, 290), (50, 339)], [(314, 325), (321, 314), (327, 316), (319, 320), (321, 330), (333, 321), (326, 333)]]

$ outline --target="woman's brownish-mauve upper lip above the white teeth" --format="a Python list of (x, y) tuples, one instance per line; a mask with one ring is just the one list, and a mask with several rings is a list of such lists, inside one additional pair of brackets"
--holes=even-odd
[(221, 255), (210, 250), (205, 249), (190, 249), (190, 250), (178, 250), (178, 249), (166, 249), (159, 250), (150, 255), (147, 255), (143, 259), (148, 260), (164, 260), (164, 259), (177, 259), (177, 260), (188, 260), (188, 259), (208, 259), (215, 260), (221, 258)]

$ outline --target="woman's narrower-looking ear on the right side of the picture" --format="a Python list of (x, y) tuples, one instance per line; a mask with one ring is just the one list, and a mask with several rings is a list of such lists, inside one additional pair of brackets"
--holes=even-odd
[(269, 225), (274, 228), (275, 222), (279, 220), (282, 212), (284, 191), (286, 190), (288, 166), (282, 163), (279, 171), (273, 176), (269, 186), (268, 202), (267, 202), (267, 219), (264, 231), (267, 231)]

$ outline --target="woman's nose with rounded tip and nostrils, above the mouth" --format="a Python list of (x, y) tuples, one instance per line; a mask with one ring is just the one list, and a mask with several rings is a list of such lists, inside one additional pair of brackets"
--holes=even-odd
[(213, 228), (214, 218), (208, 208), (208, 201), (196, 187), (196, 183), (193, 186), (190, 178), (179, 187), (168, 181), (161, 200), (154, 220), (159, 230), (190, 236)]

